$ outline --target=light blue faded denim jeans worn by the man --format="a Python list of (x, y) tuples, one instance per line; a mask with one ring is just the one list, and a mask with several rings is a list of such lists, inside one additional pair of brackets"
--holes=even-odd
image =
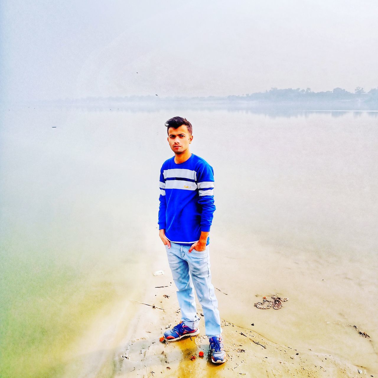
[(195, 329), (200, 322), (197, 315), (194, 290), (202, 306), (205, 319), (205, 331), (208, 337), (220, 336), (222, 328), (218, 311), (218, 300), (211, 283), (209, 245), (202, 252), (190, 246), (176, 243), (166, 245), (167, 257), (177, 286), (177, 299), (181, 309), (181, 320), (189, 328)]

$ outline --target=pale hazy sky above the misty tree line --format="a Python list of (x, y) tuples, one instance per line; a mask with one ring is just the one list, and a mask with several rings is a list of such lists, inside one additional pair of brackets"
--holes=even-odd
[(378, 86), (376, 0), (0, 6), (3, 100)]

